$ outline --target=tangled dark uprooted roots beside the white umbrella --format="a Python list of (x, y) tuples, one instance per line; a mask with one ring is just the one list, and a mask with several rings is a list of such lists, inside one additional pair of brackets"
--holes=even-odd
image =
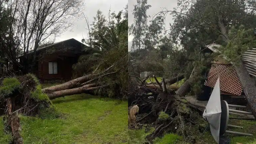
[[(175, 92), (162, 89), (147, 88), (140, 84), (128, 96), (128, 106), (137, 104), (140, 108), (137, 123), (149, 124), (155, 127), (154, 132), (146, 136), (149, 142), (164, 133), (176, 133), (183, 136), (188, 143), (196, 143), (200, 132), (203, 109), (198, 108), (181, 98), (189, 89), (184, 84), (181, 90)], [(149, 94), (150, 93), (150, 94)]]

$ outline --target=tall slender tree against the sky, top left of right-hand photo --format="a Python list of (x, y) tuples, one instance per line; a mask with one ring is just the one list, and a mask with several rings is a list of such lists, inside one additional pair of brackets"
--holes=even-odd
[(134, 36), (132, 40), (132, 49), (140, 49), (143, 46), (143, 38), (146, 35), (148, 28), (148, 16), (147, 10), (151, 7), (148, 5), (148, 0), (137, 0), (137, 4), (134, 6), (133, 15), (134, 23), (130, 27), (131, 34)]

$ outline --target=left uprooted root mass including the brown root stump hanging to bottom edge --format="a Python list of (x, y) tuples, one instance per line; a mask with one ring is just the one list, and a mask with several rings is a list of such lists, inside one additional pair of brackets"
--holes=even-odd
[(44, 118), (46, 113), (55, 109), (48, 96), (42, 93), (37, 78), (32, 74), (5, 78), (0, 83), (0, 115), (4, 115), (6, 130), (13, 135), (12, 143), (22, 144), (18, 115)]

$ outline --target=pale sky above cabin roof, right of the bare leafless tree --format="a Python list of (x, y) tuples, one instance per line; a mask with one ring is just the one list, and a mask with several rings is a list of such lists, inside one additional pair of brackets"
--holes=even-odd
[[(109, 9), (118, 13), (120, 10), (124, 9), (125, 5), (128, 3), (127, 0), (85, 0), (86, 10), (84, 14), (87, 15), (89, 22), (93, 22), (93, 17), (96, 16), (97, 10), (101, 10), (103, 14), (108, 17)], [(74, 38), (81, 42), (81, 40), (87, 37), (87, 30), (85, 20), (77, 20), (73, 27), (70, 28), (72, 31), (64, 32), (60, 37), (57, 37), (55, 42), (67, 40)]]

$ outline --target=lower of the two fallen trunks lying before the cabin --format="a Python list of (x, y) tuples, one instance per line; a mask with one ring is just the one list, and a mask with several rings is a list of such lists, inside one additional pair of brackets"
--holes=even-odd
[(58, 97), (64, 97), (67, 95), (74, 95), (74, 94), (81, 94), (81, 93), (87, 93), (91, 95), (95, 95), (93, 90), (98, 89), (102, 86), (96, 86), (96, 84), (87, 84), (78, 88), (73, 89), (66, 89), (66, 90), (60, 90), (55, 92), (46, 93), (49, 97), (49, 99), (55, 99)]

